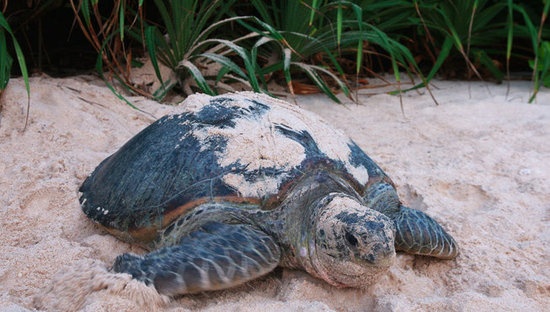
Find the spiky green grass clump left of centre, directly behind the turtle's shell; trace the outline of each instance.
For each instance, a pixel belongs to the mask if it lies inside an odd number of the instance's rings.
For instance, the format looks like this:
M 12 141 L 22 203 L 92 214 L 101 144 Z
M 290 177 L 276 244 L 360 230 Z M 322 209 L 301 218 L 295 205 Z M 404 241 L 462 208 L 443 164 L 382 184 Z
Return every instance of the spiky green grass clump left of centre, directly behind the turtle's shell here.
M 82 16 L 79 18 L 81 27 L 99 52 L 97 69 L 102 71 L 106 65 L 129 91 L 159 100 L 176 85 L 186 94 L 195 90 L 216 94 L 218 86 L 229 88 L 223 83 L 225 78 L 247 84 L 254 91 L 261 91 L 250 52 L 237 44 L 240 39 L 213 36 L 220 28 L 248 18 L 229 17 L 228 11 L 234 0 L 216 0 L 208 4 L 197 0 L 155 0 L 153 3 L 160 16 L 156 22 L 149 21 L 145 16 L 143 1 L 139 1 L 133 10 L 129 1 L 119 1 L 105 22 L 98 13 L 98 0 L 81 0 L 78 5 L 73 0 L 71 2 L 74 10 Z M 95 17 L 95 24 L 92 17 Z M 132 50 L 125 48 L 128 40 L 124 36 L 130 37 L 148 52 L 155 75 L 161 82 L 161 90 L 147 94 L 132 85 L 129 71 L 134 59 L 130 53 Z M 122 60 L 120 55 L 123 56 Z M 234 57 L 240 58 L 244 70 Z M 173 70 L 177 81 L 162 77 L 160 62 Z M 214 76 L 205 75 L 204 69 L 212 66 L 212 63 L 219 64 L 220 70 Z

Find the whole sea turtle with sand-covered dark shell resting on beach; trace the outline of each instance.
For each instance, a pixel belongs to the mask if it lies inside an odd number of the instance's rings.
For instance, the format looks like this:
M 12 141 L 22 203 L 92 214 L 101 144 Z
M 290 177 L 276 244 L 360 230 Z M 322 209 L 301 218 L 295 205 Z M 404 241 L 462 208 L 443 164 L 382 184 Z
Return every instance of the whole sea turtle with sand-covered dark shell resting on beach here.
M 395 250 L 452 259 L 457 244 L 350 138 L 250 92 L 193 95 L 84 181 L 84 213 L 151 250 L 113 270 L 167 295 L 218 290 L 280 265 L 364 287 Z

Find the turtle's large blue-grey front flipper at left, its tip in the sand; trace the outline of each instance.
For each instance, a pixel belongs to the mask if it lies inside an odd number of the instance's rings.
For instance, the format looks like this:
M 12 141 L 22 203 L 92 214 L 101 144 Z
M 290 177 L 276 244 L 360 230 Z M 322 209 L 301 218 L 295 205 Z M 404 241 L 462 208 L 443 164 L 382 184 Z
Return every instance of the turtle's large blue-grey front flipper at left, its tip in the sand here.
M 209 222 L 175 246 L 118 256 L 113 270 L 181 295 L 243 284 L 272 271 L 280 255 L 274 239 L 250 225 Z

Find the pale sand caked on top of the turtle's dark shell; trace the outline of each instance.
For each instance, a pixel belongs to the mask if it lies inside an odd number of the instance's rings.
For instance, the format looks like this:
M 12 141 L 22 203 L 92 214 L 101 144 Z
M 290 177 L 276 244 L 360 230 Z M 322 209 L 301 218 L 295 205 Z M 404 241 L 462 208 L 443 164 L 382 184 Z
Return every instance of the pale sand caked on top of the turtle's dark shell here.
M 235 120 L 235 127 L 204 127 L 196 129 L 193 134 L 200 142 L 206 142 L 208 138 L 215 136 L 227 139 L 226 149 L 223 153 L 216 155 L 220 166 L 226 167 L 239 162 L 246 165 L 247 170 L 274 168 L 281 172 L 281 174 L 266 176 L 256 181 L 247 181 L 244 176 L 235 173 L 226 174 L 223 177 L 224 182 L 238 190 L 242 196 L 277 194 L 288 173 L 306 158 L 304 147 L 277 131 L 275 126 L 308 132 L 317 143 L 319 150 L 331 159 L 340 160 L 359 183 L 367 183 L 367 169 L 350 163 L 351 140 L 319 116 L 264 94 L 240 92 L 224 94 L 221 97 L 232 99 L 227 101 L 228 107 L 242 108 L 243 111 L 254 105 L 251 100 L 269 107 L 264 114 L 243 114 Z M 182 112 L 197 113 L 204 106 L 210 105 L 211 99 L 211 96 L 205 94 L 191 95 L 180 107 L 183 109 Z M 207 148 L 207 145 L 202 147 L 202 149 Z

